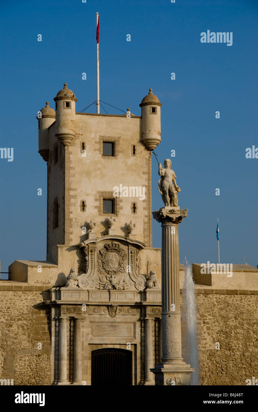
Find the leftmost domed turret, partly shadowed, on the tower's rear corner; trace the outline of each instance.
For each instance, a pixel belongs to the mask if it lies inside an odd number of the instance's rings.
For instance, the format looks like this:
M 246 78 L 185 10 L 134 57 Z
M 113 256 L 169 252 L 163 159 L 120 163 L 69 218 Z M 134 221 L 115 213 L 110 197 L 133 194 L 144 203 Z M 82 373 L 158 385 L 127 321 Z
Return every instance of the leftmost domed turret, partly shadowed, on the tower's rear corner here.
M 56 112 L 49 107 L 49 102 L 46 102 L 44 108 L 38 112 L 38 152 L 43 157 L 45 162 L 48 162 L 49 157 L 49 126 L 54 123 Z

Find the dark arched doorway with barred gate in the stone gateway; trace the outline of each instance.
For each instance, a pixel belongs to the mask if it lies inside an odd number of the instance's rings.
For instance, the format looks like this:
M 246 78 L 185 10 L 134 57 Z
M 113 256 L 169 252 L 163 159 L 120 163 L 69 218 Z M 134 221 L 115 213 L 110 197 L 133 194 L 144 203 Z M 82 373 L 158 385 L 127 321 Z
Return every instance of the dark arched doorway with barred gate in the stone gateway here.
M 131 386 L 132 352 L 97 349 L 91 352 L 91 385 Z

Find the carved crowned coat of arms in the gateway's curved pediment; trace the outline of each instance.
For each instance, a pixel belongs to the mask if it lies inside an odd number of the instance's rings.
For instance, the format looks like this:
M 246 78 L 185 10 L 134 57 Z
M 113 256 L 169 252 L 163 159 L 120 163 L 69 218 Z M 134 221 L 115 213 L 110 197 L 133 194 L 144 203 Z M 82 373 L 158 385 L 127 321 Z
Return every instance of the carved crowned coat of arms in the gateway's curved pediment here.
M 106 272 L 109 275 L 116 275 L 120 272 L 124 273 L 125 258 L 125 251 L 124 249 L 120 248 L 120 245 L 118 243 L 106 243 L 106 245 L 99 250 L 99 272 Z

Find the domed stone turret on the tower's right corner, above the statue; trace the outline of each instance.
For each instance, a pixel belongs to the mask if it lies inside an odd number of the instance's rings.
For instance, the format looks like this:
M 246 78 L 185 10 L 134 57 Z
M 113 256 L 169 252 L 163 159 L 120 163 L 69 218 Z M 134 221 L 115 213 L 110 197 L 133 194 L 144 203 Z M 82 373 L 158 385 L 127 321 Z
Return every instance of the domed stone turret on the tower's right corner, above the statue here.
M 154 150 L 161 142 L 160 133 L 160 103 L 157 96 L 149 89 L 141 104 L 142 141 L 148 150 Z

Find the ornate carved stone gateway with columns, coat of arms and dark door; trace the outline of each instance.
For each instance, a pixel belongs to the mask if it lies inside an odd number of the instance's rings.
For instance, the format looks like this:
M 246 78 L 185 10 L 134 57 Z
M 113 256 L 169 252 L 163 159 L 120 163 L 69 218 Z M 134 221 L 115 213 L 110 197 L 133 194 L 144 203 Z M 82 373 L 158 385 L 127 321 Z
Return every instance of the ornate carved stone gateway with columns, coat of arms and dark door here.
M 152 264 L 145 265 L 153 252 L 116 235 L 76 246 L 78 269 L 70 269 L 66 286 L 52 288 L 48 301 L 53 383 L 154 385 L 150 368 L 160 361 L 161 288 Z

